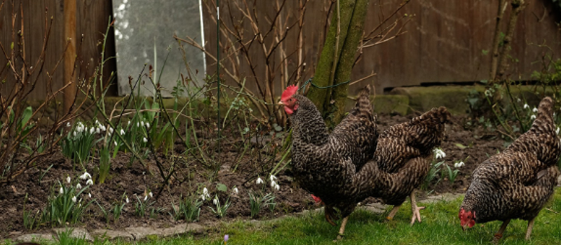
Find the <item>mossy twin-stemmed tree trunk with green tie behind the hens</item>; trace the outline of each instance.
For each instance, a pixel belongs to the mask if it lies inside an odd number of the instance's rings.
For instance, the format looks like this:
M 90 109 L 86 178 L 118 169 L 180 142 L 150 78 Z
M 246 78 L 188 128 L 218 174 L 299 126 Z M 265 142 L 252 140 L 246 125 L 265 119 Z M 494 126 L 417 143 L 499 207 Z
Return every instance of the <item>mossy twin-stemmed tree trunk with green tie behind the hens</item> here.
M 339 0 L 332 14 L 313 83 L 320 87 L 344 83 L 351 78 L 369 0 Z M 337 3 L 335 3 L 337 4 Z M 316 104 L 327 125 L 337 125 L 344 116 L 348 84 L 322 89 L 310 87 L 309 99 Z

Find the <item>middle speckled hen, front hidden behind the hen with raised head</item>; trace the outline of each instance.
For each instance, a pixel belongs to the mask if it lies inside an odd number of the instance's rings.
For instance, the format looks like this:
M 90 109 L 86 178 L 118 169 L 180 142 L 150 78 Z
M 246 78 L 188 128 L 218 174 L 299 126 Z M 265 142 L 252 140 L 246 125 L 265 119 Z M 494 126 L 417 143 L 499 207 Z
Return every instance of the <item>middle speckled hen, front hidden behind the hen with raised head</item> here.
M 440 107 L 381 133 L 373 161 L 365 166 L 365 170 L 372 164 L 378 167 L 377 178 L 373 179 L 374 188 L 362 195 L 378 197 L 393 205 L 388 220 L 393 219 L 409 196 L 413 213 L 411 225 L 416 220 L 421 222 L 419 210 L 424 207 L 417 207 L 414 190 L 426 178 L 433 149 L 444 139 L 445 124 L 450 118 L 447 109 Z

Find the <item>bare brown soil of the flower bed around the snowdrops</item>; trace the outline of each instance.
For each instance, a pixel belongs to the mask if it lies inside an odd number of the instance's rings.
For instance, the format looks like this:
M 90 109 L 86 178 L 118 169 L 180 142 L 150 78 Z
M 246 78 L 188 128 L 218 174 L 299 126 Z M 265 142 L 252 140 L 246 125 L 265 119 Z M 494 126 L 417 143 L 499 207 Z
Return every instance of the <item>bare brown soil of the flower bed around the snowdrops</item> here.
M 403 123 L 410 120 L 417 115 L 409 116 L 391 116 L 379 115 L 379 128 L 384 130 L 391 125 Z M 419 190 L 421 198 L 427 193 L 465 193 L 469 185 L 470 175 L 473 169 L 477 167 L 480 162 L 488 158 L 488 155 L 494 155 L 497 150 L 502 151 L 504 148 L 503 139 L 499 134 L 482 130 L 480 127 L 471 127 L 466 129 L 464 127 L 467 118 L 459 117 L 453 118 L 451 125 L 447 127 L 447 138 L 442 144 L 442 150 L 445 151 L 445 163 L 450 167 L 454 166 L 454 161 L 464 160 L 465 166 L 459 171 L 456 181 L 451 185 L 447 180 L 447 176 L 440 176 L 432 181 L 428 190 Z M 228 135 L 228 132 L 224 132 Z M 231 135 L 231 138 L 236 136 Z M 184 158 L 175 158 L 171 160 L 164 155 L 158 155 L 158 161 L 173 162 L 177 165 L 177 176 L 184 176 L 184 178 L 170 179 L 170 185 L 165 186 L 158 195 L 161 186 L 163 185 L 163 178 L 158 172 L 156 167 L 156 160 L 153 156 L 147 158 L 149 167 L 144 168 L 138 161 L 130 162 L 130 153 L 119 153 L 117 158 L 111 161 L 110 176 L 103 184 L 95 183 L 91 186 L 86 193 L 92 195 L 92 199 L 97 200 L 105 209 L 121 200 L 123 193 L 129 197 L 130 203 L 126 204 L 123 214 L 118 222 L 113 221 L 107 223 L 104 221 L 104 216 L 93 202 L 86 214 L 82 218 L 77 227 L 87 228 L 88 230 L 105 228 L 105 229 L 119 229 L 133 226 L 149 226 L 154 228 L 166 228 L 173 226 L 177 223 L 184 221 L 174 221 L 170 213 L 172 211 L 172 204 L 177 204 L 180 197 L 190 195 L 190 193 L 201 193 L 203 186 L 208 187 L 210 195 L 214 197 L 215 194 L 219 195 L 219 199 L 224 202 L 227 199 L 227 194 L 216 190 L 217 183 L 223 183 L 230 189 L 233 186 L 238 186 L 239 193 L 231 195 L 231 207 L 227 211 L 227 216 L 222 220 L 229 221 L 233 219 L 250 219 L 250 202 L 248 197 L 248 190 L 261 190 L 264 188 L 269 191 L 269 181 L 266 181 L 266 186 L 257 186 L 255 180 L 257 176 L 266 178 L 268 173 L 273 167 L 274 163 L 264 165 L 260 161 L 267 161 L 267 156 L 252 155 L 252 159 L 239 158 L 239 148 L 236 144 L 231 143 L 226 137 L 223 141 L 222 154 L 220 160 L 222 167 L 216 174 L 216 177 L 211 182 L 208 181 L 209 177 L 215 172 L 210 170 L 202 162 L 189 162 L 189 155 L 184 155 Z M 177 142 L 180 143 L 180 142 Z M 255 141 L 253 148 L 259 147 L 259 141 Z M 466 148 L 464 148 L 464 146 Z M 205 147 L 213 147 L 212 144 L 205 145 Z M 176 153 L 182 153 L 182 146 L 177 144 L 175 146 Z M 270 157 L 270 156 L 269 156 Z M 467 160 L 465 160 L 467 158 Z M 41 161 L 39 161 L 41 162 Z M 239 164 L 238 164 L 239 163 Z M 53 167 L 46 172 L 41 181 L 41 175 L 49 165 Z M 86 166 L 88 172 L 95 172 L 97 160 L 93 160 Z M 81 175 L 81 167 L 74 166 L 70 160 L 65 158 L 62 153 L 55 153 L 51 155 L 46 164 L 33 169 L 29 169 L 20 178 L 9 183 L 6 186 L 0 187 L 0 237 L 8 238 L 21 235 L 22 233 L 41 232 L 50 228 L 50 225 L 45 224 L 39 230 L 29 231 L 23 227 L 23 205 L 26 193 L 29 195 L 25 209 L 31 211 L 39 211 L 46 207 L 48 196 L 56 190 L 53 190 L 58 185 L 59 181 L 65 183 L 66 176 L 72 176 L 74 180 L 77 176 Z M 235 171 L 234 171 L 235 169 Z M 441 171 L 446 172 L 446 169 Z M 303 211 L 304 209 L 316 208 L 316 205 L 310 195 L 301 188 L 298 188 L 292 183 L 292 177 L 289 176 L 290 172 L 281 171 L 278 177 L 278 184 L 280 190 L 275 192 L 276 207 L 273 211 L 268 208 L 262 209 L 257 219 L 270 219 L 285 214 Z M 95 178 L 95 176 L 94 176 Z M 84 183 L 82 182 L 82 185 Z M 55 188 L 53 188 L 55 187 Z M 156 211 L 156 216 L 150 217 L 149 211 L 144 217 L 135 216 L 135 203 L 137 197 L 141 200 L 144 198 L 144 193 L 151 191 L 154 193 L 155 201 L 153 206 Z M 83 195 L 85 201 L 89 201 L 90 197 Z M 375 202 L 370 198 L 366 202 Z M 219 221 L 220 219 L 212 214 L 210 207 L 213 207 L 212 201 L 207 200 L 201 208 L 201 216 L 198 223 L 201 225 L 209 225 Z

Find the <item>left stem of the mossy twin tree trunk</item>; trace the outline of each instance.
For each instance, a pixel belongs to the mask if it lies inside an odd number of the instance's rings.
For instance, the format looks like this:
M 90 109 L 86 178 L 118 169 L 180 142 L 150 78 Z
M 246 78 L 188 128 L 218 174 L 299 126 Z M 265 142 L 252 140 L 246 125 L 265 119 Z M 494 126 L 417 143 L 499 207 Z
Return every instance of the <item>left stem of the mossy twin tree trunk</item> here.
M 342 43 L 344 43 L 347 31 L 349 30 L 349 23 L 353 16 L 355 0 L 338 1 L 339 14 L 337 14 L 338 10 L 337 7 L 335 7 L 331 17 L 331 24 L 327 31 L 327 36 L 325 37 L 325 44 L 323 45 L 318 66 L 316 67 L 316 74 L 313 76 L 313 83 L 319 87 L 327 87 L 333 84 L 335 70 L 333 68 L 337 67 L 337 63 L 339 62 L 339 57 L 343 49 Z M 340 31 L 338 31 L 338 29 Z M 339 42 L 337 42 L 337 38 L 339 38 Z M 337 43 L 339 45 L 337 45 Z M 353 55 L 354 52 L 356 52 L 356 50 L 353 51 Z M 328 90 L 325 88 L 318 88 L 311 85 L 307 94 L 308 98 L 311 99 L 313 104 L 316 104 L 318 110 L 322 114 L 325 111 L 323 107 L 325 101 L 331 98 L 330 94 L 327 92 Z

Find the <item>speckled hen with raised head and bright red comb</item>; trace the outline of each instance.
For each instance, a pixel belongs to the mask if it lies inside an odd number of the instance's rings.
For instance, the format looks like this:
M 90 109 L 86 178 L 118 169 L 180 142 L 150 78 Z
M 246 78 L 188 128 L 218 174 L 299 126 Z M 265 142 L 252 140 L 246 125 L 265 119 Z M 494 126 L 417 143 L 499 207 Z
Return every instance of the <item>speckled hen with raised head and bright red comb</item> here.
M 335 225 L 334 208 L 344 220 L 339 238 L 349 214 L 354 210 L 359 193 L 367 188 L 371 176 L 358 170 L 372 158 L 376 149 L 377 127 L 370 104 L 370 86 L 358 96 L 355 108 L 331 134 L 316 106 L 306 97 L 296 94 L 291 85 L 282 94 L 280 105 L 292 123 L 292 173 L 304 190 L 320 197 L 325 204 L 325 219 Z

